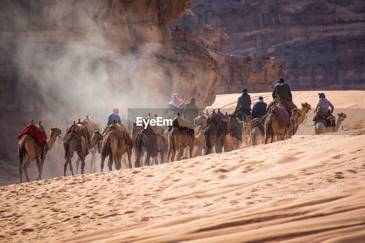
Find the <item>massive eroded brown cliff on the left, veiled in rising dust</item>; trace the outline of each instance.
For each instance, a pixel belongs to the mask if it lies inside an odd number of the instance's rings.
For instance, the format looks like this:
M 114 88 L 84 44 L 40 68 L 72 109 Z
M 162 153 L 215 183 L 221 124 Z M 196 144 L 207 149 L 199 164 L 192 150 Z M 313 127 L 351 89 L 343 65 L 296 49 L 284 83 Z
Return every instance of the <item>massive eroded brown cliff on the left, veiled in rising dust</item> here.
M 190 0 L 2 3 L 0 157 L 15 161 L 16 136 L 31 119 L 48 135 L 91 113 L 105 126 L 115 106 L 124 114 L 163 108 L 172 93 L 212 104 L 218 65 L 168 27 L 189 7 Z

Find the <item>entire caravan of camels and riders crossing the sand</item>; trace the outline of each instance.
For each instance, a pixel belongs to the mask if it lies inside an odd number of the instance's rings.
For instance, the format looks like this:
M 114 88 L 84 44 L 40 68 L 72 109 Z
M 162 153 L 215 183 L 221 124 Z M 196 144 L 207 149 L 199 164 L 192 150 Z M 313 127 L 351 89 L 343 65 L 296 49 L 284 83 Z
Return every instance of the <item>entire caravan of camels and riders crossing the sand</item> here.
M 277 88 L 279 93 L 281 88 L 282 86 Z M 37 180 L 42 179 L 42 167 L 47 152 L 53 147 L 57 136 L 64 145 L 64 176 L 68 166 L 74 175 L 71 162 L 74 152 L 78 157 L 76 174 L 80 163 L 81 174 L 84 174 L 88 154 L 91 154 L 90 173 L 95 173 L 97 154 L 100 154 L 100 171 L 103 172 L 105 159 L 109 171 L 113 170 L 113 165 L 116 170 L 120 170 L 122 160 L 125 167 L 131 169 L 132 154 L 134 166 L 141 167 L 291 139 L 298 131 L 299 125 L 307 121 L 311 105 L 304 102 L 299 109 L 288 97 L 285 99 L 276 92 L 273 101 L 267 105 L 260 96 L 251 109 L 250 96 L 247 89 L 243 89 L 233 113 L 223 114 L 220 109 L 217 112 L 215 109 L 199 111 L 195 105 L 195 98 L 192 97 L 189 103 L 184 104 L 178 95 L 174 94 L 162 114 L 164 118 L 171 120 L 170 124 L 158 125 L 157 114 L 152 117 L 151 113 L 143 118 L 142 125 L 134 120 L 126 121 L 125 118 L 122 123 L 118 115 L 119 109 L 114 107 L 108 117 L 107 126 L 102 130 L 100 122 L 92 114 L 91 117 L 78 119 L 77 123 L 73 121 L 66 128 L 63 138 L 58 127 L 51 127 L 48 140 L 41 121 L 35 125 L 31 120 L 31 124 L 18 136 L 20 182 L 23 182 L 22 170 L 27 181 L 30 181 L 27 167 L 34 159 L 38 166 Z M 331 115 L 333 105 L 325 99 L 323 93 L 319 93 L 319 98 L 314 124 L 304 125 L 314 126 L 315 134 L 338 131 L 346 115 L 339 112 L 334 117 Z M 127 130 L 129 123 L 130 131 Z M 28 159 L 22 168 L 26 154 Z

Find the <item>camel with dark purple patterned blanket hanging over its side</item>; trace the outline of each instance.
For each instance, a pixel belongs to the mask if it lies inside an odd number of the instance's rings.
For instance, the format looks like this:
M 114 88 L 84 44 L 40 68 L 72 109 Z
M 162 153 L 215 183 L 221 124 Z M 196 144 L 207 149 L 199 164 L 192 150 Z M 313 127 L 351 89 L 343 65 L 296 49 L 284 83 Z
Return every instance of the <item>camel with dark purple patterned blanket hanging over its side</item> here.
M 159 136 L 159 135 L 157 135 Z M 146 161 L 145 161 L 145 164 L 147 166 L 150 166 L 150 149 L 148 147 L 148 141 L 146 139 L 146 137 L 143 135 L 143 134 L 137 134 L 137 137 L 136 137 L 136 153 L 137 153 L 137 156 L 136 156 L 136 160 L 134 162 L 135 164 L 135 167 L 141 167 L 141 155 L 143 155 L 143 151 L 142 151 L 142 147 L 145 147 L 146 148 L 146 151 L 147 151 L 147 155 L 146 155 Z M 166 139 L 165 139 L 165 136 L 162 136 L 160 137 L 160 158 L 161 158 L 161 164 L 164 163 L 164 154 L 165 154 L 165 147 L 166 147 Z M 153 159 L 153 162 L 152 163 L 155 163 L 155 165 L 158 164 L 158 161 L 157 161 L 157 157 L 155 157 Z

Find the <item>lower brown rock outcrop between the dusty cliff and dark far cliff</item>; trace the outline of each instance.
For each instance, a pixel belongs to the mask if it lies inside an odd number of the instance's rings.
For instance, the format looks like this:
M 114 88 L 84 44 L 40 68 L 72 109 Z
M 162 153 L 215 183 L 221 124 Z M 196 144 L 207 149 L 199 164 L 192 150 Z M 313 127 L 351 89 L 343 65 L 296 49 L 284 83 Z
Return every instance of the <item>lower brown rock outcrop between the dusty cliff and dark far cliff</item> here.
M 191 32 L 197 42 L 205 46 L 218 62 L 221 78 L 215 92 L 217 94 L 267 92 L 273 89 L 278 78 L 283 77 L 285 68 L 273 57 L 237 57 L 220 53 L 228 35 L 214 26 L 199 24 L 195 14 L 187 9 L 184 16 L 169 25 L 180 26 Z

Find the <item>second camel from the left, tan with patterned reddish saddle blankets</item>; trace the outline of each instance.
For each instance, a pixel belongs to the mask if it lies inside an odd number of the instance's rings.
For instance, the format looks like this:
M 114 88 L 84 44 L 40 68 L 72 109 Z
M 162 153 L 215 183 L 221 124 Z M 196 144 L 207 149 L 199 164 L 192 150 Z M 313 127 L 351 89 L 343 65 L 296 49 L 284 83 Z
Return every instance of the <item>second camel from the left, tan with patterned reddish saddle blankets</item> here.
M 87 142 L 87 148 L 91 149 L 95 147 L 97 141 L 101 140 L 101 134 L 99 131 L 94 131 L 90 140 Z M 64 176 L 66 176 L 67 165 L 70 165 L 70 171 L 73 174 L 73 168 L 71 165 L 71 158 L 73 157 L 74 151 L 76 151 L 78 157 L 81 160 L 81 174 L 84 174 L 85 167 L 85 157 L 86 153 L 82 153 L 81 149 L 81 140 L 74 134 L 70 134 L 69 138 L 64 141 L 65 148 L 65 159 L 66 162 L 64 164 Z

